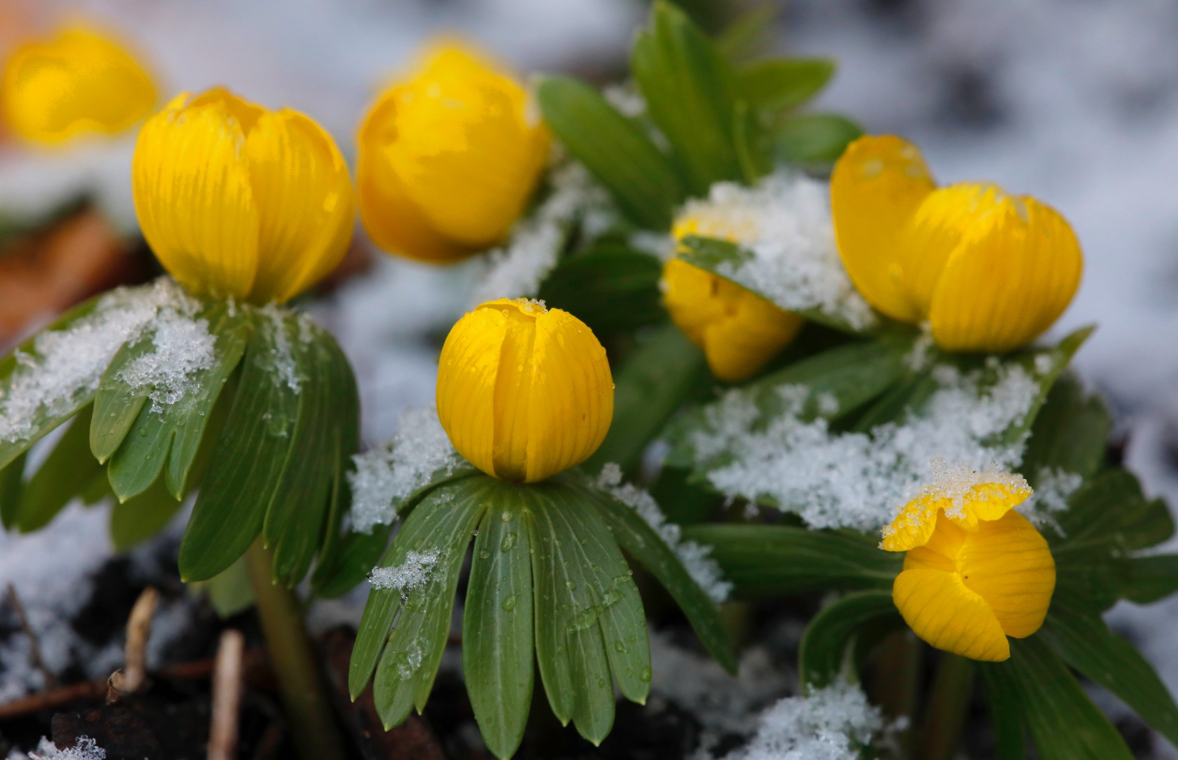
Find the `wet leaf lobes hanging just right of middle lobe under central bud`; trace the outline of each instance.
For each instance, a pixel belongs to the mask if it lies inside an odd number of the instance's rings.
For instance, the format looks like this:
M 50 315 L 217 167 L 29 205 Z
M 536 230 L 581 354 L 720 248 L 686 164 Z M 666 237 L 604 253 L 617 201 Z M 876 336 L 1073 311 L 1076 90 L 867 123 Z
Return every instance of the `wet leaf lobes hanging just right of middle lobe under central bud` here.
M 519 490 L 536 612 L 536 660 L 552 713 L 594 745 L 614 725 L 614 686 L 646 701 L 650 648 L 642 600 L 593 500 L 564 478 Z M 608 643 L 608 648 L 607 648 Z

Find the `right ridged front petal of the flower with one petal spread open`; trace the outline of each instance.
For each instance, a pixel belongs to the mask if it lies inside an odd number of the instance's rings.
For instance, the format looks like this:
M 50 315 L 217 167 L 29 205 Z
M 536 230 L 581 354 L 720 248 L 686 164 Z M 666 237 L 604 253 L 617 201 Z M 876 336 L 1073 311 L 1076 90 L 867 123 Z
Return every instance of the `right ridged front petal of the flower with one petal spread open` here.
M 951 351 L 1008 351 L 1064 312 L 1080 284 L 1079 242 L 1033 198 L 1005 197 L 969 226 L 933 296 L 933 339 Z

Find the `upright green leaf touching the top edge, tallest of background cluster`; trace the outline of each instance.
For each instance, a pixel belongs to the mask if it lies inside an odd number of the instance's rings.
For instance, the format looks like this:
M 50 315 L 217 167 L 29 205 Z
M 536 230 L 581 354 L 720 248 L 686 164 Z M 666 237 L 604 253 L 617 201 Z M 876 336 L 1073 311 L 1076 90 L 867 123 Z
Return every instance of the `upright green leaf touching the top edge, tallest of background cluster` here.
M 710 40 L 681 11 L 656 0 L 650 26 L 630 55 L 647 110 L 674 147 L 688 193 L 741 179 L 733 140 L 734 74 Z

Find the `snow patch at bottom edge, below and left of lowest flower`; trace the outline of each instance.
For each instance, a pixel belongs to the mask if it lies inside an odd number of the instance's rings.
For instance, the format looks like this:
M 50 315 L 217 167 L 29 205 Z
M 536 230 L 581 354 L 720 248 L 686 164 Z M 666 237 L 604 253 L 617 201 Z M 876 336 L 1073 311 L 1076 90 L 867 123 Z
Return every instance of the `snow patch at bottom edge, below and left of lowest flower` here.
M 882 714 L 863 692 L 836 681 L 762 713 L 753 740 L 724 760 L 859 760 L 884 729 Z

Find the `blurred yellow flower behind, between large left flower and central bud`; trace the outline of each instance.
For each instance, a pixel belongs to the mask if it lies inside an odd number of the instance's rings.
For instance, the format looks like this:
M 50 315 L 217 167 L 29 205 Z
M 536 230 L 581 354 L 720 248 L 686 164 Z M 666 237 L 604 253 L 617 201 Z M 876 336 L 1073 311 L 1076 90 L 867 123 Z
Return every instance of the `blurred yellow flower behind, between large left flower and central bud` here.
M 377 99 L 358 144 L 369 234 L 393 253 L 438 263 L 507 236 L 536 187 L 549 136 L 523 87 L 475 52 L 442 45 Z

